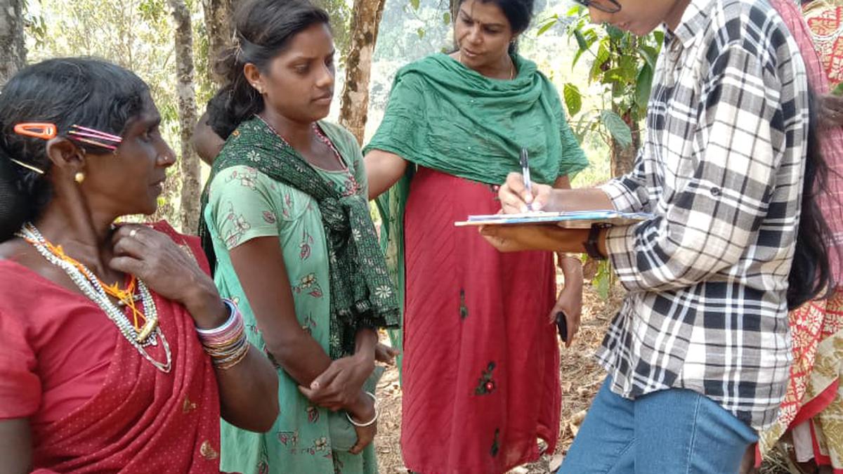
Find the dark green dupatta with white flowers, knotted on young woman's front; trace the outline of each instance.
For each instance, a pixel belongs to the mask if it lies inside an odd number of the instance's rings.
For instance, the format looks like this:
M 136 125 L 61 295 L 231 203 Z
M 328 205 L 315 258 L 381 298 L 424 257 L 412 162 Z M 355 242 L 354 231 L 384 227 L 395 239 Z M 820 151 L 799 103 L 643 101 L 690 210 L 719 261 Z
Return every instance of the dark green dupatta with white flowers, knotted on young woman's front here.
M 326 131 L 327 132 L 327 131 Z M 332 137 L 332 139 L 334 139 Z M 214 160 L 211 176 L 202 192 L 201 215 L 205 215 L 210 184 L 222 170 L 244 165 L 259 170 L 313 197 L 319 205 L 330 262 L 330 357 L 354 352 L 358 329 L 395 327 L 399 304 L 365 198 L 341 196 L 330 183 L 259 118 L 244 121 L 232 132 Z M 216 267 L 211 234 L 201 220 L 202 247 Z

